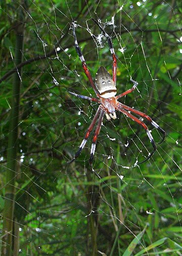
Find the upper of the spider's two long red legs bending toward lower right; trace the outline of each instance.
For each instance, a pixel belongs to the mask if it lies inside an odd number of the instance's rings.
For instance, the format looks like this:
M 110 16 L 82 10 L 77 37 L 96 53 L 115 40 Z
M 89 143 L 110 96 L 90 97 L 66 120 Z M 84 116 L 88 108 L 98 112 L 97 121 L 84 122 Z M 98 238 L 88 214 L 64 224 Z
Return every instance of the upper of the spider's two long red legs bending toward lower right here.
M 163 138 L 161 139 L 160 142 L 158 142 L 157 144 L 160 144 L 162 143 L 162 141 L 164 140 L 165 138 L 165 131 L 156 123 L 154 122 L 148 115 L 146 115 L 145 113 L 141 112 L 141 111 L 138 111 L 138 110 L 135 110 L 134 108 L 132 107 L 129 107 L 129 106 L 126 106 L 122 103 L 120 103 L 120 106 L 124 109 L 126 109 L 127 111 L 130 111 L 130 112 L 133 112 L 134 114 L 136 115 L 139 115 L 145 119 L 147 119 L 156 129 L 158 129 L 162 134 L 163 134 Z

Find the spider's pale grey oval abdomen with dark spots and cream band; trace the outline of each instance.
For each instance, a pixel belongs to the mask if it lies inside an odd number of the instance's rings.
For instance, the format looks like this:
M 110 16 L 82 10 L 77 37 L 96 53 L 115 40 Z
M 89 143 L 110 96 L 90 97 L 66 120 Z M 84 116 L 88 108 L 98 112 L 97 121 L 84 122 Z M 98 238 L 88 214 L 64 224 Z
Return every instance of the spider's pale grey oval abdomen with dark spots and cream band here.
M 108 99 L 116 95 L 115 83 L 104 66 L 96 73 L 96 88 L 102 98 Z

